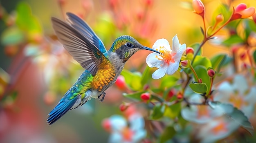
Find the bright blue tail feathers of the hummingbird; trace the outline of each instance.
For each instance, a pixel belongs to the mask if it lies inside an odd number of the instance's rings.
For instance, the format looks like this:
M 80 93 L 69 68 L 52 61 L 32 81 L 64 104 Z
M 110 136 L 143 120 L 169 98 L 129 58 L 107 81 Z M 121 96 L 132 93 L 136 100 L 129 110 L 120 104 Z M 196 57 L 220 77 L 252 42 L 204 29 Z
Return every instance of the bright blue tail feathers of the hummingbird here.
M 66 93 L 67 94 L 67 93 Z M 72 106 L 76 103 L 78 96 L 74 97 L 73 99 L 67 99 L 68 96 L 64 96 L 58 105 L 48 114 L 49 117 L 47 119 L 47 123 L 52 125 L 58 119 L 60 119 L 67 111 L 72 108 Z

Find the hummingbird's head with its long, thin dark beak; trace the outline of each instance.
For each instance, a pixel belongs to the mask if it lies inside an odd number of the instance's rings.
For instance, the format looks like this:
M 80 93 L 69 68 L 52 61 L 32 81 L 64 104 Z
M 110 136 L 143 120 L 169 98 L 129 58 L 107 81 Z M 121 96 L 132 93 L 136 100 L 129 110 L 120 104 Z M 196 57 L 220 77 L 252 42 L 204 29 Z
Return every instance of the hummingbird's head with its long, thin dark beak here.
M 110 51 L 116 53 L 119 59 L 122 59 L 123 63 L 125 63 L 133 54 L 142 49 L 160 54 L 159 51 L 141 45 L 137 40 L 128 35 L 118 37 L 112 44 Z

